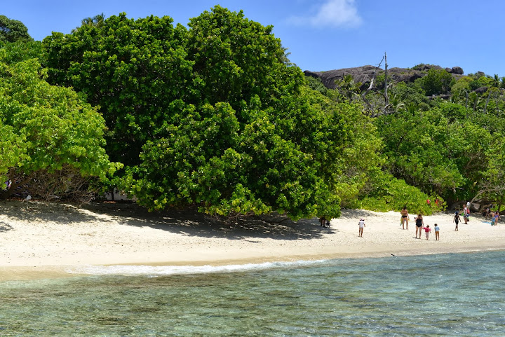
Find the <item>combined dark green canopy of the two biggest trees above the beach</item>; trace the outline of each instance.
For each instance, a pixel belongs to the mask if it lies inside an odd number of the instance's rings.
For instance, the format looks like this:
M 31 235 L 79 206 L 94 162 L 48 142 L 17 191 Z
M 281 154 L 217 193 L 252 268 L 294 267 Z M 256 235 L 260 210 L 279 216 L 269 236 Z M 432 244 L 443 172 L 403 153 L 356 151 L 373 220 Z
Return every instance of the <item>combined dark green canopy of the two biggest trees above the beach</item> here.
M 138 202 L 337 216 L 341 117 L 309 103 L 271 27 L 220 6 L 189 29 L 171 23 L 123 13 L 43 41 L 50 81 L 100 105 L 107 151 L 128 165 Z

